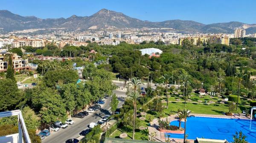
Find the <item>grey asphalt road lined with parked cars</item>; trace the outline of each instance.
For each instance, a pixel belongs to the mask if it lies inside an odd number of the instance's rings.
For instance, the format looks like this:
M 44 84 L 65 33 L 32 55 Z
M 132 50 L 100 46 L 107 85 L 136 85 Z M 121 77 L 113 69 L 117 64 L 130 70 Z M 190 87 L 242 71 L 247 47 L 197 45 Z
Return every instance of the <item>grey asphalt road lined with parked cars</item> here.
M 125 95 L 125 92 L 122 91 L 114 91 L 114 93 Z M 102 105 L 102 109 L 100 111 L 89 113 L 89 115 L 82 119 L 72 118 L 72 120 L 75 122 L 73 125 L 68 125 L 66 129 L 60 129 L 58 132 L 51 132 L 51 135 L 42 140 L 42 143 L 65 143 L 65 141 L 70 138 L 81 139 L 82 137 L 79 135 L 79 133 L 82 130 L 87 129 L 91 122 L 98 122 L 104 117 L 104 115 L 111 114 L 109 105 L 110 101 L 110 97 L 106 99 L 105 104 Z M 118 108 L 122 107 L 122 104 L 124 104 L 124 102 L 119 102 Z

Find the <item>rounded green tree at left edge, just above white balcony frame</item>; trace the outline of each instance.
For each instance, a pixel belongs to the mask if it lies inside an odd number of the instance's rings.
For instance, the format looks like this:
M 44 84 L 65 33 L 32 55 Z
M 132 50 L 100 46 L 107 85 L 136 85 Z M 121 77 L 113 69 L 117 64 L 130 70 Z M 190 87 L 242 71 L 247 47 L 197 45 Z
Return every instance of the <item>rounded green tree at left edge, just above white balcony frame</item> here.
M 22 98 L 15 81 L 0 79 L 0 111 L 17 109 Z

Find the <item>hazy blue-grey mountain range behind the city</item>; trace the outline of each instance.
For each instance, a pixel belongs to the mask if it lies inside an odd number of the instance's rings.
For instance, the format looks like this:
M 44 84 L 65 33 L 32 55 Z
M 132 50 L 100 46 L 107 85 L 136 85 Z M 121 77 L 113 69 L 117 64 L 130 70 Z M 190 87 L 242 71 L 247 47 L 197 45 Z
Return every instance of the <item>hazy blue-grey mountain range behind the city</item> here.
M 245 28 L 246 34 L 256 33 L 256 24 L 225 22 L 203 24 L 191 20 L 166 20 L 163 22 L 143 21 L 131 18 L 120 12 L 101 9 L 91 16 L 69 18 L 40 19 L 34 16 L 23 17 L 7 10 L 0 10 L 0 28 L 3 31 L 17 31 L 38 28 L 62 28 L 86 30 L 101 28 L 173 28 L 179 32 L 233 33 L 235 28 Z

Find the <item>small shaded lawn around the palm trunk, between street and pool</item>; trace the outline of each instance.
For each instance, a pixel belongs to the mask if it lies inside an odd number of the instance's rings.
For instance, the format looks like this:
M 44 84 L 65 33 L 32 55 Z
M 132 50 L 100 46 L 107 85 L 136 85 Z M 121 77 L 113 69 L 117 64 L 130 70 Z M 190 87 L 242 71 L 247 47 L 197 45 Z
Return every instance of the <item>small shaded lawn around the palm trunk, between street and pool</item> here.
M 146 121 L 141 121 L 140 126 L 145 126 L 148 127 L 148 120 Z M 112 133 L 110 137 L 112 138 L 119 138 L 119 135 L 122 134 L 122 132 L 127 133 L 128 137 L 125 139 L 132 139 L 132 126 L 127 125 L 121 126 L 118 128 L 115 132 Z M 148 129 L 140 130 L 140 129 L 135 129 L 135 140 L 148 140 Z

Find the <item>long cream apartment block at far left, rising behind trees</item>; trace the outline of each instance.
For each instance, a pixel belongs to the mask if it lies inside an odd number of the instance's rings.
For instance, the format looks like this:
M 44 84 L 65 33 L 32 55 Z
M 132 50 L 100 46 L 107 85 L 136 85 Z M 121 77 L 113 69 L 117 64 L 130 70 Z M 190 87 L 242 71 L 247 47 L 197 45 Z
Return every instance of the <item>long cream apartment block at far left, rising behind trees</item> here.
M 13 48 L 20 48 L 24 46 L 44 47 L 43 39 L 16 39 L 12 42 Z

